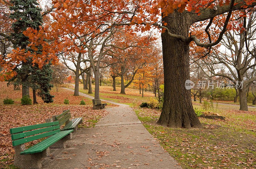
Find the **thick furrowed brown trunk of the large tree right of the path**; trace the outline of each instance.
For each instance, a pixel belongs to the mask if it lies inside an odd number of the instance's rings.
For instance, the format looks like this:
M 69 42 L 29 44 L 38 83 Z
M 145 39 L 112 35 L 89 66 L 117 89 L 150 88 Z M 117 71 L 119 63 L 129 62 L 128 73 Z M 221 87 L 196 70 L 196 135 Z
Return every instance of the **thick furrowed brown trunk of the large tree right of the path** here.
M 189 21 L 175 10 L 164 17 L 171 33 L 188 37 Z M 185 88 L 189 79 L 189 44 L 161 34 L 164 60 L 164 103 L 158 124 L 173 128 L 202 128 L 192 106 L 191 91 Z

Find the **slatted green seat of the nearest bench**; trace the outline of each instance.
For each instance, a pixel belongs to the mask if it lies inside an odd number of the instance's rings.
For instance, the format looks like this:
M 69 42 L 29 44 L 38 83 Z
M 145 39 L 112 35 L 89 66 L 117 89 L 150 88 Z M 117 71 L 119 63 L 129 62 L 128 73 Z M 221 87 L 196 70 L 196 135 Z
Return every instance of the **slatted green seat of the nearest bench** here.
M 54 134 L 53 136 L 46 138 L 40 143 L 35 144 L 34 146 L 28 148 L 25 151 L 22 151 L 20 154 L 22 155 L 22 154 L 32 154 L 32 153 L 42 152 L 47 147 L 50 147 L 53 143 L 56 143 L 57 141 L 67 136 L 72 131 L 73 130 L 59 131 L 57 134 Z

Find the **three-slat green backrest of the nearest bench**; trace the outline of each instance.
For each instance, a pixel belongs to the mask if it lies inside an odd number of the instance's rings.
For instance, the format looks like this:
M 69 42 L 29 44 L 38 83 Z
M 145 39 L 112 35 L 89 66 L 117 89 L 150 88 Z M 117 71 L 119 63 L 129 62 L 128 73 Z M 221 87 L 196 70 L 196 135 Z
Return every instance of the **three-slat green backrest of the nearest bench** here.
M 12 128 L 10 129 L 13 140 L 12 146 L 28 143 L 30 141 L 34 141 L 43 137 L 51 136 L 58 133 L 59 131 L 60 125 L 58 121 Z

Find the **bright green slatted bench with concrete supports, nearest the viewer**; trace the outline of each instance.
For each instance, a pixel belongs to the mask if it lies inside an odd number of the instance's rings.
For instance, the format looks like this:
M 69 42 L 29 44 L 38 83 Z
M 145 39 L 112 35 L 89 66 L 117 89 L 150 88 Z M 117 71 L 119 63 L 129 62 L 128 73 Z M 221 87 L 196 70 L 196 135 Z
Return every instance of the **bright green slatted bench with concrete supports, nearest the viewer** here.
M 58 121 L 10 129 L 15 150 L 14 165 L 19 168 L 41 168 L 42 158 L 50 155 L 49 147 L 66 148 L 66 141 L 72 139 L 72 131 L 60 131 Z M 25 148 L 24 143 L 44 137 L 48 138 Z

